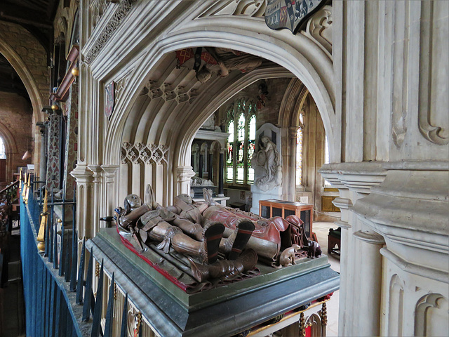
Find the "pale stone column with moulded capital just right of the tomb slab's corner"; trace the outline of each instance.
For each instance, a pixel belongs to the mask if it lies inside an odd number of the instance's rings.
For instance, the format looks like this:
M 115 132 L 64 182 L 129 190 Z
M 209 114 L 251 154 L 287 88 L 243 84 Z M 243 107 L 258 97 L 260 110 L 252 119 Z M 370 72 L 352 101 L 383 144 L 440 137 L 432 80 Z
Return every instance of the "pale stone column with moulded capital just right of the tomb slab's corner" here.
M 382 163 L 361 162 L 326 164 L 319 172 L 340 191 L 334 200 L 342 212 L 341 220 L 335 223 L 342 227 L 338 334 L 378 336 L 383 239 L 358 220 L 352 205 L 382 183 L 386 171 Z M 368 271 L 368 266 L 373 269 Z

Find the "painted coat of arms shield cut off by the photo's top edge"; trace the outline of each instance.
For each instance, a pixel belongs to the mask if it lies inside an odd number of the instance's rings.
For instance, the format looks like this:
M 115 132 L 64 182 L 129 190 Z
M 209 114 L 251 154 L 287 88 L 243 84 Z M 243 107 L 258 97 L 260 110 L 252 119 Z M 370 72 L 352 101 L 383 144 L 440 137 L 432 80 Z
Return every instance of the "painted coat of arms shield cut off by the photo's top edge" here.
M 326 0 L 268 0 L 265 23 L 271 29 L 290 29 L 293 34 Z

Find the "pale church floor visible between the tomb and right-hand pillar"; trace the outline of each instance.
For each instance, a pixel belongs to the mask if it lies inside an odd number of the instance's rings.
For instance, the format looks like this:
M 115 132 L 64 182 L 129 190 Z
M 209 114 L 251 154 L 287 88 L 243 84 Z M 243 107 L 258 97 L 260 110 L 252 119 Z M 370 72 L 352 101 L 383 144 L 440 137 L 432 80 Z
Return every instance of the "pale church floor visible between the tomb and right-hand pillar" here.
M 335 223 L 314 223 L 313 231 L 316 234 L 316 238 L 321 246 L 321 250 L 324 254 L 328 255 L 328 232 L 329 228 L 337 229 L 338 226 Z M 340 256 L 331 254 L 328 256 L 330 267 L 336 272 L 340 272 Z M 340 291 L 335 291 L 333 296 L 327 303 L 328 309 L 328 329 L 326 331 L 327 337 L 338 336 L 338 303 L 340 299 Z

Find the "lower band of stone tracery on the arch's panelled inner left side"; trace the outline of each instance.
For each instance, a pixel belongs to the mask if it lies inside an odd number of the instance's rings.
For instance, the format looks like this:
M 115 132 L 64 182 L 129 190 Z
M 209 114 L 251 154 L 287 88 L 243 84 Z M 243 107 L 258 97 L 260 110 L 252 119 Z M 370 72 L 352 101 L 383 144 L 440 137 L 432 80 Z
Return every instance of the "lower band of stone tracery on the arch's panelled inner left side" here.
M 156 165 L 167 164 L 168 145 L 125 142 L 121 145 L 120 159 L 122 164 L 126 164 L 126 161 L 133 164 L 139 164 L 140 162 Z

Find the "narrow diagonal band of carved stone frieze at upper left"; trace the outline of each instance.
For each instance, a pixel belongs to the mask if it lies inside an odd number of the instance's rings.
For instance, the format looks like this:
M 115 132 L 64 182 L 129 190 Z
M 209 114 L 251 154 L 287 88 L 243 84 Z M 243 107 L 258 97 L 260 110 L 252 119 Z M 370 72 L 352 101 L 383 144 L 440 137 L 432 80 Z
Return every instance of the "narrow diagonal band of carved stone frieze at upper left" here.
M 125 18 L 125 16 L 129 13 L 135 1 L 136 0 L 121 1 L 119 6 L 117 6 L 116 11 L 114 12 L 114 15 L 112 15 L 112 19 L 107 22 L 107 25 L 105 25 L 105 29 L 103 29 L 100 33 L 100 37 L 98 37 L 97 41 L 95 41 L 95 44 L 93 44 L 92 48 L 87 52 L 86 57 L 84 58 L 84 62 L 86 62 L 88 65 L 91 64 L 98 53 L 100 53 L 103 46 L 105 46 L 107 40 L 109 40 L 115 30 L 119 27 L 123 18 Z

